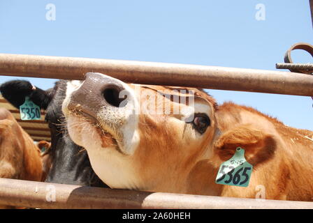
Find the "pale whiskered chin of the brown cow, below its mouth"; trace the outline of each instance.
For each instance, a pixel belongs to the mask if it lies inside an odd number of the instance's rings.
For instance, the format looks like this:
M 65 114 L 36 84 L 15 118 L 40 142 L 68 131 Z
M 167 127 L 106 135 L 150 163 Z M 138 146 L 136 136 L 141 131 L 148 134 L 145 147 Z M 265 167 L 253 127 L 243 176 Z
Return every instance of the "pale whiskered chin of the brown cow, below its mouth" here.
M 105 132 L 99 125 L 96 125 L 84 116 L 70 115 L 66 117 L 68 134 L 71 139 L 84 148 L 108 149 L 113 148 L 120 153 L 117 141 L 112 134 Z

